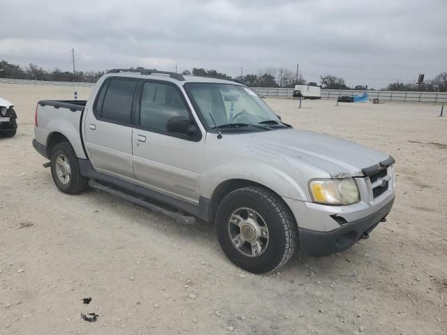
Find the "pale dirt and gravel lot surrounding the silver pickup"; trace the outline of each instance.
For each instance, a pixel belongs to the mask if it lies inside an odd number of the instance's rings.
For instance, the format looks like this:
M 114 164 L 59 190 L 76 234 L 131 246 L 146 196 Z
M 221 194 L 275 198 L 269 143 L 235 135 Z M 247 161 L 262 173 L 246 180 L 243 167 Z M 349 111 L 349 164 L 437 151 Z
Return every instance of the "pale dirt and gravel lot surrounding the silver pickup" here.
M 89 89 L 78 89 L 87 99 Z M 71 88 L 0 85 L 0 334 L 447 334 L 447 117 L 439 106 L 267 99 L 296 128 L 396 158 L 388 222 L 349 251 L 296 254 L 255 276 L 214 226 L 182 226 L 110 195 L 57 190 L 31 147 L 36 102 Z M 22 271 L 23 270 L 23 271 Z M 82 298 L 92 297 L 89 305 Z M 96 313 L 85 322 L 80 313 Z

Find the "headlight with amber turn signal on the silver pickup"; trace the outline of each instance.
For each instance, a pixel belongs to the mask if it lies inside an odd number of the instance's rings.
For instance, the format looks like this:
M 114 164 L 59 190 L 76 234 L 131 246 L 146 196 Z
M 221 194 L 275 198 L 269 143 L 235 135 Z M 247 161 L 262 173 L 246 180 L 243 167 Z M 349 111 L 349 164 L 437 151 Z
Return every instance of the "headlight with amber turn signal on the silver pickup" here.
M 353 204 L 360 200 L 353 178 L 311 180 L 309 191 L 312 200 L 321 204 Z

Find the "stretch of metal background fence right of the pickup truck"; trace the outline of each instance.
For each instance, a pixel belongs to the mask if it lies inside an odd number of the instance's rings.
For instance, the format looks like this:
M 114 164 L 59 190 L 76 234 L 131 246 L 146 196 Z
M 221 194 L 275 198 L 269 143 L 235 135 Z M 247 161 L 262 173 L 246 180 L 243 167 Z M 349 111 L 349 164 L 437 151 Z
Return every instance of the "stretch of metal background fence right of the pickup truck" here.
M 252 87 L 259 96 L 270 98 L 293 98 L 293 89 L 272 87 Z M 343 89 L 322 89 L 321 98 L 337 99 L 339 96 L 358 96 L 364 91 Z M 379 101 L 400 103 L 447 103 L 447 92 L 400 92 L 400 91 L 367 91 L 369 99 L 379 98 Z

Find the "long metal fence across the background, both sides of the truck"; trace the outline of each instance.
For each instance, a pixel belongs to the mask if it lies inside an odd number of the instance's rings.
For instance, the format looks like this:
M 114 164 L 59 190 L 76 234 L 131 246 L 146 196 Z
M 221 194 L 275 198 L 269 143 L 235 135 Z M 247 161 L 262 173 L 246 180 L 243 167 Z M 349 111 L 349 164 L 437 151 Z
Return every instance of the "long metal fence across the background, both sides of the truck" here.
M 0 78 L 0 84 L 32 84 L 73 86 L 73 82 L 50 82 L 44 80 L 22 80 Z M 91 82 L 75 82 L 76 87 L 91 87 Z M 280 89 L 273 87 L 252 87 L 259 95 L 269 98 L 293 98 L 293 89 Z M 447 92 L 400 92 L 400 91 L 367 91 L 369 99 L 379 98 L 379 101 L 391 101 L 400 103 L 447 103 Z M 343 89 L 322 89 L 321 98 L 337 99 L 339 96 L 362 95 L 363 91 Z

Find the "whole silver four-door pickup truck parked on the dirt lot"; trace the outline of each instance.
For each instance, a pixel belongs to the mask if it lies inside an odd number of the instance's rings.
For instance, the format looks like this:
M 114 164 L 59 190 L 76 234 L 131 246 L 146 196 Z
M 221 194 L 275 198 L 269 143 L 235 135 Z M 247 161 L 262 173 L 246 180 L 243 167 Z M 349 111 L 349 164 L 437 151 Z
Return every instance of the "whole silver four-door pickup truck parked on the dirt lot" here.
M 224 253 L 257 274 L 296 248 L 330 255 L 366 239 L 395 198 L 391 156 L 295 130 L 230 80 L 110 70 L 88 101 L 39 101 L 34 130 L 62 192 L 215 221 Z

